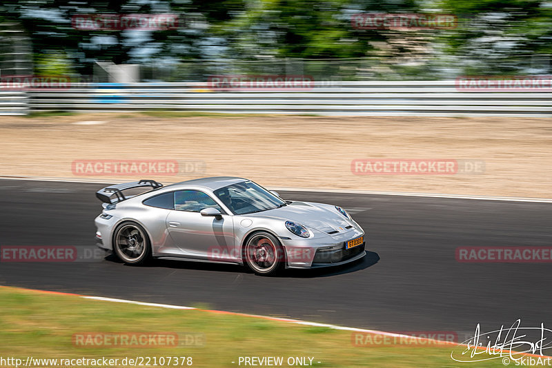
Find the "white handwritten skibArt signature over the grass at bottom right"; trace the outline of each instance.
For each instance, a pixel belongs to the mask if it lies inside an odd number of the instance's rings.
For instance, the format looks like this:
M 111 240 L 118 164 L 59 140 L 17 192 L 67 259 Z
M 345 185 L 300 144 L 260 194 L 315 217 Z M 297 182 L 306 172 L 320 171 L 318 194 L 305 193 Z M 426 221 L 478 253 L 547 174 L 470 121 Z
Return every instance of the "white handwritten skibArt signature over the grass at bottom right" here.
M 544 327 L 520 327 L 518 319 L 511 327 L 481 332 L 477 323 L 473 337 L 455 347 L 451 358 L 457 362 L 483 362 L 502 359 L 504 365 L 552 366 L 552 358 L 544 352 L 552 348 L 552 329 Z M 528 336 L 532 336 L 529 338 Z M 531 354 L 531 355 L 529 355 Z

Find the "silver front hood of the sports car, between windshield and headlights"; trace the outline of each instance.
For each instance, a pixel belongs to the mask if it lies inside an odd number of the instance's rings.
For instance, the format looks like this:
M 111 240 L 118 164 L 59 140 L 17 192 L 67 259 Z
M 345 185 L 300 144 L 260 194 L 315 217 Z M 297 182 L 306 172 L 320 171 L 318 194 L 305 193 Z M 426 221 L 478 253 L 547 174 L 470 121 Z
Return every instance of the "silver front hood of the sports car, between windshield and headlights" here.
M 294 201 L 284 207 L 268 209 L 268 211 L 250 214 L 249 216 L 293 221 L 326 233 L 343 233 L 348 231 L 346 227 L 353 225 L 342 214 L 337 212 L 334 206 L 311 202 Z

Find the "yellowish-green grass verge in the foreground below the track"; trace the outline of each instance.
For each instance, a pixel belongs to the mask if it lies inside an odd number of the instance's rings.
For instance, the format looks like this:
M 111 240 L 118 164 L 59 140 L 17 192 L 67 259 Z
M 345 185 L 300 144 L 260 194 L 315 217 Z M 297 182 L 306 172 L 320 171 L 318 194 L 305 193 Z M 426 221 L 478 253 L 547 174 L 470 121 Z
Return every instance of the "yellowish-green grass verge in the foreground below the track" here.
M 204 344 L 75 347 L 73 334 L 85 332 L 193 334 L 203 336 Z M 466 363 L 451 360 L 451 346 L 356 347 L 351 343 L 350 331 L 328 327 L 103 302 L 11 287 L 0 288 L 0 341 L 0 356 L 18 358 L 192 356 L 193 367 L 239 367 L 239 356 L 283 356 L 282 367 L 288 367 L 288 357 L 311 356 L 315 367 L 466 367 Z M 504 367 L 500 360 L 473 364 Z

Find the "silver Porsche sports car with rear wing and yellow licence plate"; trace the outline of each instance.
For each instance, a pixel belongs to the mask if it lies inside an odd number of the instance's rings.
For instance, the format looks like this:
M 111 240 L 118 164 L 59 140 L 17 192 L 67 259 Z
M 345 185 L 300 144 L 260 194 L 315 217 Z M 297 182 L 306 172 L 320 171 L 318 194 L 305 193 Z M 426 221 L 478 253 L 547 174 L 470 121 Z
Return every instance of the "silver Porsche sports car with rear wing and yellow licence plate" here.
M 95 220 L 98 245 L 129 264 L 150 257 L 237 263 L 268 275 L 366 255 L 364 231 L 341 207 L 284 201 L 244 178 L 167 186 L 141 180 L 96 196 L 103 202 Z

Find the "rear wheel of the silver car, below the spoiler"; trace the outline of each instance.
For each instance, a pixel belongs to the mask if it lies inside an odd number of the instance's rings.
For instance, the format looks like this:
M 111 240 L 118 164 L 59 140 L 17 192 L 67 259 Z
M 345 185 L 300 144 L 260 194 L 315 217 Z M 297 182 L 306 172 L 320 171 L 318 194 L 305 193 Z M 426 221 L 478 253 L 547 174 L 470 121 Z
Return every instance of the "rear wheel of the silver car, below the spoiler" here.
M 151 256 L 148 233 L 137 223 L 121 223 L 113 232 L 113 252 L 127 265 L 143 265 Z

